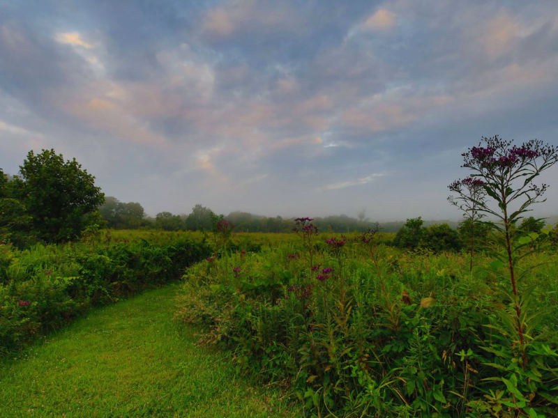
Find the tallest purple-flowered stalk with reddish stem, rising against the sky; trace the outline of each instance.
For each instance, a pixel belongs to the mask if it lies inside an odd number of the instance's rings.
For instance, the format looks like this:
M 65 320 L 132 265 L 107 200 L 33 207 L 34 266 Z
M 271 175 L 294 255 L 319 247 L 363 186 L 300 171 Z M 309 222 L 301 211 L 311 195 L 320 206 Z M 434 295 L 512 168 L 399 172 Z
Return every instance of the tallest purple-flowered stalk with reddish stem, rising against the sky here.
M 536 139 L 519 147 L 512 145 L 513 141 L 504 141 L 497 136 L 483 138 L 483 142 L 462 154 L 462 167 L 472 171 L 473 179 L 484 183 L 483 189 L 492 198 L 492 201 L 484 200 L 474 194 L 469 196 L 469 202 L 476 205 L 478 212 L 498 220 L 488 224 L 492 229 L 499 231 L 500 242 L 505 251 L 504 254 L 495 252 L 492 255 L 506 265 L 509 273 L 512 288 L 510 297 L 515 309 L 516 332 L 522 350 L 522 366 L 525 369 L 527 316 L 522 314 L 524 301 L 518 291 L 518 281 L 522 279 L 523 274 L 518 275 L 516 268 L 518 261 L 531 254 L 531 251 L 522 251 L 527 243 L 520 240 L 515 242 L 514 226 L 525 212 L 531 210 L 531 205 L 545 200 L 542 196 L 548 185 L 538 186 L 533 180 L 558 161 L 558 150 Z

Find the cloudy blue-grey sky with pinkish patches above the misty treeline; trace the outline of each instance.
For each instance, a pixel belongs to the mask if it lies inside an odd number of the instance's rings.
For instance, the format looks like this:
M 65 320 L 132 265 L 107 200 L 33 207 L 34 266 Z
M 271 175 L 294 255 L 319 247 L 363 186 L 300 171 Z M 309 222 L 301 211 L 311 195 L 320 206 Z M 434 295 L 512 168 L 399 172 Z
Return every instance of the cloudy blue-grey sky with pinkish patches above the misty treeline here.
M 558 145 L 556 0 L 0 0 L 0 167 L 54 148 L 149 215 L 459 219 L 495 134 Z

